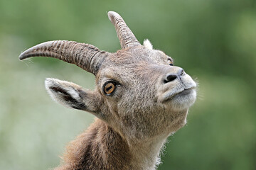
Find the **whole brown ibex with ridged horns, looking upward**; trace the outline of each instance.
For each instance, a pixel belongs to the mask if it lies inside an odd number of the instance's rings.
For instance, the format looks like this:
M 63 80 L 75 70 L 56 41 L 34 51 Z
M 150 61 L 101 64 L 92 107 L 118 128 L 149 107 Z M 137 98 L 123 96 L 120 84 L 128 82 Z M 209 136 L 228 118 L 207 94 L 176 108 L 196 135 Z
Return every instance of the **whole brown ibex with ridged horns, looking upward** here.
M 121 16 L 108 12 L 122 50 L 105 52 L 89 44 L 55 40 L 22 52 L 28 57 L 53 57 L 95 75 L 96 89 L 46 79 L 54 101 L 97 117 L 70 142 L 56 169 L 156 169 L 167 137 L 186 124 L 196 101 L 196 83 L 173 59 L 141 45 Z

